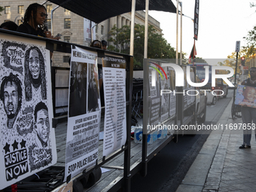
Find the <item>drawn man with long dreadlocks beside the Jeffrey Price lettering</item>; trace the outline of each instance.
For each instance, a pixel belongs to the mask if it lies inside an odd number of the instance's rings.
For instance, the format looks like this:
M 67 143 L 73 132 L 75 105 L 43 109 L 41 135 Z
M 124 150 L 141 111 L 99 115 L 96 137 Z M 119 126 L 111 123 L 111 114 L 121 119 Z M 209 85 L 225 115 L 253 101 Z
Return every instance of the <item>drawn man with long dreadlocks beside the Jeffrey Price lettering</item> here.
M 26 50 L 24 68 L 26 101 L 47 99 L 44 56 L 38 47 Z

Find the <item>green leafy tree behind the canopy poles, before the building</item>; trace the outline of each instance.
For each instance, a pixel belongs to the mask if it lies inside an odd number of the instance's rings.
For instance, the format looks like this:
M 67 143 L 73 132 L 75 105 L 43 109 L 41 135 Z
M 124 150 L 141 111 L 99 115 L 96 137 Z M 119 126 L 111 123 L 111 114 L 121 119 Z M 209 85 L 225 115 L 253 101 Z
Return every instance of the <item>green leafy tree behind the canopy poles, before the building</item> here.
M 123 26 L 117 28 L 114 26 L 110 32 L 111 38 L 109 42 L 113 45 L 108 46 L 108 50 L 129 53 L 130 50 L 130 26 Z M 144 40 L 145 40 L 145 26 L 136 24 L 134 27 L 134 67 L 142 68 L 144 58 Z M 182 55 L 182 57 L 184 54 Z M 151 59 L 174 59 L 175 50 L 163 38 L 162 35 L 157 34 L 153 26 L 148 26 L 148 58 Z

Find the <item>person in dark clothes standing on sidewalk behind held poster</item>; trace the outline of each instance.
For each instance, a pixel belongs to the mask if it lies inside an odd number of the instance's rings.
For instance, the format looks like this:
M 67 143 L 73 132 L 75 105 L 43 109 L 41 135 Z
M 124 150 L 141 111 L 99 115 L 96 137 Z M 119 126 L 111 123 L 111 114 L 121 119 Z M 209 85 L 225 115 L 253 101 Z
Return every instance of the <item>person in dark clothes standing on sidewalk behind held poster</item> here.
M 242 81 L 242 85 L 256 87 L 256 67 L 251 67 L 250 78 Z M 241 112 L 242 123 L 246 125 L 246 129 L 243 130 L 243 144 L 239 148 L 251 148 L 251 121 L 256 123 L 256 108 L 242 106 Z

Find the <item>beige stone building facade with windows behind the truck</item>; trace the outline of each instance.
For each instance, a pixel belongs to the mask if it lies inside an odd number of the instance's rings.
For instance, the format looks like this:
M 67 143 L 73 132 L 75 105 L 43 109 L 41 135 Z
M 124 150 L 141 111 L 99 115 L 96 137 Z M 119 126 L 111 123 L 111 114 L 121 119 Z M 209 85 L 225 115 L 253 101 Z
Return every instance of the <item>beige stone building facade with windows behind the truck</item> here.
M 62 34 L 62 37 L 59 41 L 66 41 L 74 44 L 81 44 L 84 46 L 90 46 L 90 41 L 84 39 L 84 18 L 78 16 L 77 14 L 72 13 L 65 8 L 56 8 L 57 5 L 46 2 L 46 1 L 20 1 L 20 0 L 0 0 L 0 6 L 5 8 L 1 12 L 0 23 L 3 23 L 8 20 L 12 20 L 18 25 L 23 23 L 23 17 L 26 11 L 26 8 L 37 2 L 38 4 L 44 4 L 47 8 L 47 26 L 49 31 L 52 31 L 53 35 L 57 33 Z M 51 17 L 51 11 L 53 11 L 53 17 Z M 53 20 L 51 20 L 53 18 Z M 108 40 L 108 32 L 114 25 L 117 25 L 118 28 L 124 25 L 130 25 L 131 13 L 121 14 L 117 17 L 111 17 L 108 20 L 103 21 L 102 23 L 96 24 L 96 39 L 98 40 Z M 161 34 L 162 29 L 160 29 L 160 23 L 157 20 L 154 20 L 153 17 L 148 18 L 149 24 L 154 26 L 157 30 L 157 33 Z M 53 26 L 51 26 L 53 23 Z M 135 23 L 144 25 L 145 23 L 145 12 L 136 11 Z M 53 66 L 68 67 L 69 66 L 69 53 L 53 53 Z

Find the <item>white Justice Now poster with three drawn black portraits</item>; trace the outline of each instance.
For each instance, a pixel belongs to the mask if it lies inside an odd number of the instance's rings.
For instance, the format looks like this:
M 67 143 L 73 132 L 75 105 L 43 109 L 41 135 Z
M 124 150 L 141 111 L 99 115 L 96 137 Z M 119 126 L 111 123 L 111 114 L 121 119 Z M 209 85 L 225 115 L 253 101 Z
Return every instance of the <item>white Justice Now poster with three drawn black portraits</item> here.
M 2 189 L 56 163 L 45 42 L 1 34 L 0 86 Z

